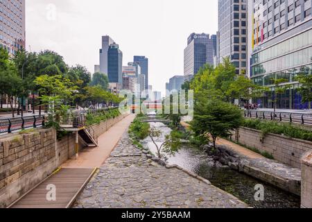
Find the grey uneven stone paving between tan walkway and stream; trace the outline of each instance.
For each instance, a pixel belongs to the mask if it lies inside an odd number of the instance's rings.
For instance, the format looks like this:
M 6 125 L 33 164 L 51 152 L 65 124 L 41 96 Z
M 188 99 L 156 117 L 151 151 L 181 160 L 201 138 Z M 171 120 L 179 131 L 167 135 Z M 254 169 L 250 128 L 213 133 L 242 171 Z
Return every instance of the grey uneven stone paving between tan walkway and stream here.
M 153 162 L 130 143 L 125 133 L 74 207 L 247 207 L 207 180 Z

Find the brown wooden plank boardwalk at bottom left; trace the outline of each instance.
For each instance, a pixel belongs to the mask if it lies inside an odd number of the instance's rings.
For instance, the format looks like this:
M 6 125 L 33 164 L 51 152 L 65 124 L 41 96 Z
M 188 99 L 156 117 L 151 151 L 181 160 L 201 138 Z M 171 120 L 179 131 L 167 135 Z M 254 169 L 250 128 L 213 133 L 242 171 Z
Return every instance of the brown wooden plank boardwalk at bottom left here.
M 60 169 L 21 196 L 12 208 L 68 208 L 87 185 L 96 169 Z M 49 185 L 55 186 L 55 200 L 47 200 Z

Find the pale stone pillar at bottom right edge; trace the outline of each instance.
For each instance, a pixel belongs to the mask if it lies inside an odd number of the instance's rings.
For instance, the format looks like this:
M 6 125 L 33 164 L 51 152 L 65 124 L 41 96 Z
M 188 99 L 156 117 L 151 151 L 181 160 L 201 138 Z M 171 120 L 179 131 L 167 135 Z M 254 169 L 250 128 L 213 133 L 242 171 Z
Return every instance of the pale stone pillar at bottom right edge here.
M 301 206 L 312 208 L 312 151 L 302 158 Z

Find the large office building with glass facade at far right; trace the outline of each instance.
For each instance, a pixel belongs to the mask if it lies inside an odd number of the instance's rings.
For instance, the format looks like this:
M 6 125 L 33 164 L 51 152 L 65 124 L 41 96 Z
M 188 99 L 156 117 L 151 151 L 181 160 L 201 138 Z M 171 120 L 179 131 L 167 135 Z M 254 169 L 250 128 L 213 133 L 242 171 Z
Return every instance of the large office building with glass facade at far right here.
M 275 91 L 276 79 L 286 79 L 290 89 L 278 95 L 277 108 L 306 109 L 297 92 L 298 74 L 312 74 L 311 0 L 259 0 L 254 3 L 254 52 L 251 78 L 257 85 Z M 272 94 L 254 99 L 263 108 L 273 108 Z

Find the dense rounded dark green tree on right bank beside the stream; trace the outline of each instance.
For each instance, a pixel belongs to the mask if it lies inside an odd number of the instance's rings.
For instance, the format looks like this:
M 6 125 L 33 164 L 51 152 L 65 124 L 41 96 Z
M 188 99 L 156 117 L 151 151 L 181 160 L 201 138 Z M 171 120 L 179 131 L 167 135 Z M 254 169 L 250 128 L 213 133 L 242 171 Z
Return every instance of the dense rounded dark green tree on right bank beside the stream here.
M 218 100 L 200 100 L 196 101 L 191 129 L 202 144 L 209 142 L 211 137 L 216 148 L 216 139 L 228 137 L 242 122 L 243 115 L 236 106 Z

